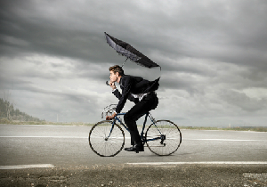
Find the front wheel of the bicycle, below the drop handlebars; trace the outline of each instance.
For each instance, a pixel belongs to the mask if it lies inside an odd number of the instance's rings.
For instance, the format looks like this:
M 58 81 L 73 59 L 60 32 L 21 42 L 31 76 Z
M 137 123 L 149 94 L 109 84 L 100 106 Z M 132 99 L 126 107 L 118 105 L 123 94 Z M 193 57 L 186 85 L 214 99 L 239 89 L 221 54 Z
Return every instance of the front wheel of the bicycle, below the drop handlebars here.
M 111 128 L 113 126 L 113 130 Z M 125 146 L 125 133 L 117 124 L 104 120 L 95 124 L 89 132 L 89 145 L 101 157 L 114 157 Z

